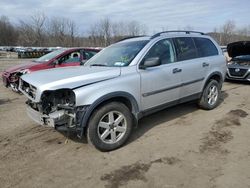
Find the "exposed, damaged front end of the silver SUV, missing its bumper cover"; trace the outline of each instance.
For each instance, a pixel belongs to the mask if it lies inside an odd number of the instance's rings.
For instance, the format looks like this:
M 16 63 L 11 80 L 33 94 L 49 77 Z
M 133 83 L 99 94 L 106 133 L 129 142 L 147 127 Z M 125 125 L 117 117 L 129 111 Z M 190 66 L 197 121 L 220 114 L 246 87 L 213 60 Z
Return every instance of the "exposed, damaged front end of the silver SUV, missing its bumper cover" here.
M 63 131 L 77 131 L 82 136 L 81 120 L 87 106 L 75 106 L 75 93 L 71 89 L 45 91 L 39 103 L 26 102 L 30 118 L 43 126 Z

